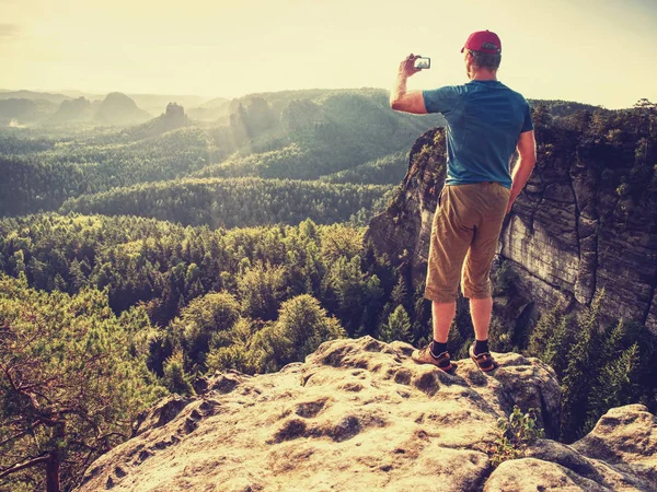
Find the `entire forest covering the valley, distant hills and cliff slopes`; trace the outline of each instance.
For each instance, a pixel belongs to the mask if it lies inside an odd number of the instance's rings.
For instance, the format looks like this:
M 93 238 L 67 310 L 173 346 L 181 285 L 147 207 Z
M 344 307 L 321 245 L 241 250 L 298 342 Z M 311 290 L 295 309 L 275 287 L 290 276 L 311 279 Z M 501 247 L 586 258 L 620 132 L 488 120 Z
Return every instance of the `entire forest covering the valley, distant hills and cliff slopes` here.
M 424 286 L 364 236 L 440 121 L 391 112 L 378 90 L 227 105 L 215 124 L 0 129 L 0 490 L 71 490 L 140 411 L 209 372 L 278 371 L 338 337 L 430 340 Z M 657 213 L 654 105 L 546 102 L 533 117 L 541 152 L 574 134 L 631 145 L 631 169 L 596 172 Z M 504 265 L 493 280 L 514 295 Z M 610 407 L 657 410 L 655 336 L 625 319 L 599 330 L 601 302 L 525 331 L 492 325 L 493 350 L 555 368 L 565 442 Z M 449 343 L 463 358 L 459 306 Z

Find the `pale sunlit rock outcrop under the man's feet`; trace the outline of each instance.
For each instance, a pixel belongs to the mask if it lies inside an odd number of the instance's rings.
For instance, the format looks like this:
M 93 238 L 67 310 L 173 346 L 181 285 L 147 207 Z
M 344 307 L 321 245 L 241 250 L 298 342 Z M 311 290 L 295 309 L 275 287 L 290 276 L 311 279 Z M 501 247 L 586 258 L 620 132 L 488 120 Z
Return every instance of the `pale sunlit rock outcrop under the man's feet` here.
M 226 372 L 196 399 L 171 397 L 88 470 L 81 491 L 657 490 L 657 418 L 609 411 L 573 445 L 543 438 L 491 465 L 514 405 L 558 427 L 560 387 L 537 359 L 497 354 L 482 374 L 416 364 L 369 336 L 322 343 L 304 363 Z

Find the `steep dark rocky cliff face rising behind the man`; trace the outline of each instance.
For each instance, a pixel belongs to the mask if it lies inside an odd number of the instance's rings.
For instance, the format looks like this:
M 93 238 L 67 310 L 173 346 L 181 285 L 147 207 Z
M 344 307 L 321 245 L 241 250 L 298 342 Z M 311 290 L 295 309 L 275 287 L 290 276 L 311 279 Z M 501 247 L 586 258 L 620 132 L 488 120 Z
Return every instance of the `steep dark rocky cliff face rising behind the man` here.
M 499 259 L 519 273 L 518 291 L 542 308 L 556 302 L 577 308 L 604 290 L 603 315 L 657 331 L 655 211 L 619 187 L 632 172 L 635 147 L 540 137 L 537 166 L 498 247 Z M 368 231 L 379 250 L 408 262 L 415 285 L 426 277 L 445 155 L 443 129 L 423 134 L 393 203 Z

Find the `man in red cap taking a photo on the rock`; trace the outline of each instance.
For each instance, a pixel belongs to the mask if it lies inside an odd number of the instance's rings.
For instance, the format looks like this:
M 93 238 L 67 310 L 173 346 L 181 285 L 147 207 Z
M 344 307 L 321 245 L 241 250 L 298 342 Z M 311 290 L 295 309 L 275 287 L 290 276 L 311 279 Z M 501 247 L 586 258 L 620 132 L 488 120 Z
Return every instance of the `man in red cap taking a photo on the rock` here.
M 457 368 L 447 351 L 447 338 L 460 277 L 475 331 L 470 356 L 483 372 L 497 367 L 488 351 L 491 262 L 504 216 L 535 163 L 529 105 L 497 80 L 499 37 L 491 31 L 472 33 L 461 52 L 469 83 L 406 92 L 408 77 L 420 71 L 414 68 L 418 57 L 410 55 L 400 63 L 390 96 L 395 110 L 441 113 L 447 120 L 447 178 L 434 215 L 424 293 L 433 302 L 434 340 L 412 354 L 415 362 L 434 364 L 447 373 Z M 516 149 L 519 162 L 511 176 L 509 164 Z

